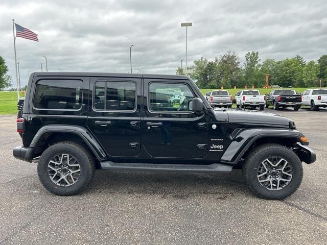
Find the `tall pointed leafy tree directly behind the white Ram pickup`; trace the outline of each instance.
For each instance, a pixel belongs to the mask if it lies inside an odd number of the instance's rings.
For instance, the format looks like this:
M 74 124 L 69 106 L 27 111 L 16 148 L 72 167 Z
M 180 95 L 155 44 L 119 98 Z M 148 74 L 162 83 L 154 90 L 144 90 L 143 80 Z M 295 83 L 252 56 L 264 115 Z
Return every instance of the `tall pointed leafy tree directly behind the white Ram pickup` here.
M 244 81 L 246 85 L 262 87 L 265 84 L 264 76 L 261 72 L 259 52 L 248 52 L 244 62 Z

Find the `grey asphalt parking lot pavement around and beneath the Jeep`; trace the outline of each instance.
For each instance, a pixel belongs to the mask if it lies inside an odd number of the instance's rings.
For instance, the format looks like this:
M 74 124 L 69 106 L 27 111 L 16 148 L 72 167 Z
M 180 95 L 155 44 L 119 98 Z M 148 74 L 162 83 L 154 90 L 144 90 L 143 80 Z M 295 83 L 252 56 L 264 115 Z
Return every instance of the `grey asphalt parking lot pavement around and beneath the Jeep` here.
M 0 244 L 327 244 L 327 110 L 292 118 L 317 161 L 284 201 L 254 197 L 240 170 L 181 174 L 97 170 L 91 186 L 58 197 L 36 163 L 19 161 L 15 115 L 0 116 Z

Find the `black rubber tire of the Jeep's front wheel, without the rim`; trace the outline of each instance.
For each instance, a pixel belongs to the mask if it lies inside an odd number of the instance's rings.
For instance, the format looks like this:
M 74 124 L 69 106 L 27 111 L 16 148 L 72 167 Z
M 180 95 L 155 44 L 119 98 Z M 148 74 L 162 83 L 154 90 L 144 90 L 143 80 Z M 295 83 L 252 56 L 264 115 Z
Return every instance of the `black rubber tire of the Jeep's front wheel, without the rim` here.
M 263 187 L 258 180 L 258 169 L 260 164 L 269 157 L 282 157 L 292 167 L 293 176 L 290 183 L 280 190 L 269 190 Z M 298 156 L 280 144 L 263 144 L 249 153 L 242 166 L 242 175 L 246 185 L 259 198 L 280 200 L 289 197 L 300 186 L 303 177 L 303 168 Z

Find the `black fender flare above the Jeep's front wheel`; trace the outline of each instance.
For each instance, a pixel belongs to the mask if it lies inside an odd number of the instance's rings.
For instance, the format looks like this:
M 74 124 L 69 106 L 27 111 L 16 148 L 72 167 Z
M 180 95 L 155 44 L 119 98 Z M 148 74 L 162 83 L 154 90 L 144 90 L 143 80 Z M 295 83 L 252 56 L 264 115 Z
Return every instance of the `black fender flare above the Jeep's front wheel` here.
M 237 135 L 233 137 L 232 142 L 222 155 L 220 162 L 227 164 L 237 164 L 244 153 L 252 145 L 252 143 L 263 137 L 275 138 L 292 138 L 296 142 L 300 141 L 300 137 L 304 135 L 297 130 L 288 129 L 243 129 L 239 130 Z

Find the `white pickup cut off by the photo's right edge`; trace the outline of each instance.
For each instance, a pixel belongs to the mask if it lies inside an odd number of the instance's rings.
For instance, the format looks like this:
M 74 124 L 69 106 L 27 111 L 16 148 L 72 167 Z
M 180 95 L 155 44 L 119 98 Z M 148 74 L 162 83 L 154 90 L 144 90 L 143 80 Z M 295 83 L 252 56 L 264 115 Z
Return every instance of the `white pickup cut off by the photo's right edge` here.
M 302 105 L 310 106 L 312 111 L 327 107 L 327 89 L 307 89 L 302 93 Z

